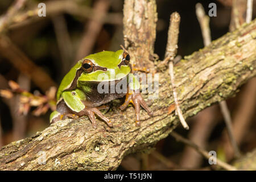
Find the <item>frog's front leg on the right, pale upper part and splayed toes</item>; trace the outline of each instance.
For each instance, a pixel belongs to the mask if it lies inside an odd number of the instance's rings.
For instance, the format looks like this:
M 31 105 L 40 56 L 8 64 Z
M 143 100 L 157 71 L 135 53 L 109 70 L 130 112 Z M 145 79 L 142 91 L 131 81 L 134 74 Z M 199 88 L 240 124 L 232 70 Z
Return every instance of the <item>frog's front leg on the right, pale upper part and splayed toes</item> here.
M 148 107 L 147 103 L 142 98 L 141 93 L 139 93 L 139 81 L 133 74 L 129 75 L 129 92 L 126 94 L 125 102 L 119 108 L 123 110 L 130 103 L 134 105 L 136 126 L 141 126 L 141 118 L 139 116 L 141 106 L 147 111 L 150 117 L 153 116 L 153 112 L 150 107 Z

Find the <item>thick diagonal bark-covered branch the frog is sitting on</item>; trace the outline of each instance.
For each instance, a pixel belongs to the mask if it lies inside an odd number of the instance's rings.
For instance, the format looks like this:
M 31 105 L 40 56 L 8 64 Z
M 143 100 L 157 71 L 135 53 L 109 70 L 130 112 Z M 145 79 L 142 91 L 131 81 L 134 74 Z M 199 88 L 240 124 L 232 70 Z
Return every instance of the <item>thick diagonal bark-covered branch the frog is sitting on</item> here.
M 256 75 L 256 20 L 185 56 L 174 67 L 180 107 L 191 117 L 216 102 L 234 96 L 240 86 Z M 146 100 L 147 95 L 143 95 Z M 141 111 L 142 125 L 135 126 L 134 109 L 118 109 L 112 102 L 106 113 L 114 127 L 87 117 L 67 119 L 34 136 L 12 142 L 0 150 L 0 170 L 110 170 L 131 152 L 147 151 L 175 129 L 175 112 L 168 71 L 159 73 L 159 98 L 147 100 L 154 117 Z M 42 164 L 43 159 L 46 163 Z M 41 164 L 40 164 L 41 163 Z

